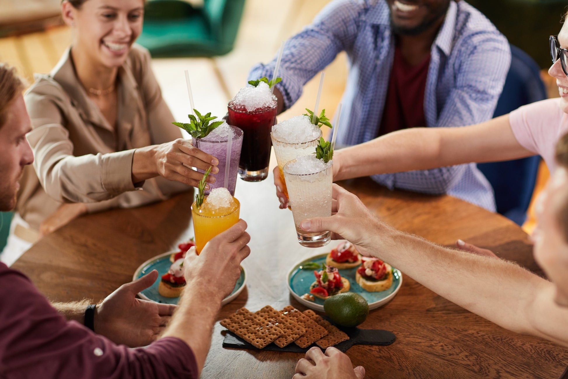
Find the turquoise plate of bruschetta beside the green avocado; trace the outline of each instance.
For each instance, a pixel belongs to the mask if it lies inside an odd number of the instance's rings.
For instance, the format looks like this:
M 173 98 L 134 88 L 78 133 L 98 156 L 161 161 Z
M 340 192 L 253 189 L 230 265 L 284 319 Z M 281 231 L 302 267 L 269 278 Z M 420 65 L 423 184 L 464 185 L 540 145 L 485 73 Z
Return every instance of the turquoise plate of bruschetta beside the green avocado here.
M 302 263 L 306 262 L 316 262 L 321 265 L 321 263 L 325 263 L 325 257 L 327 257 L 327 254 L 328 253 L 318 254 L 317 256 L 303 259 L 301 262 L 292 266 L 292 269 L 288 273 L 288 289 L 292 296 L 306 307 L 321 312 L 324 311 L 324 300 L 315 298 L 315 301 L 311 302 L 310 300 L 302 299 L 301 297 L 303 294 L 310 293 L 310 286 L 315 282 L 316 278 L 314 276 L 314 270 L 302 270 L 300 269 L 300 266 L 302 266 Z M 350 289 L 348 292 L 354 292 L 363 296 L 365 300 L 367 300 L 367 303 L 369 303 L 369 309 L 374 309 L 390 302 L 402 285 L 402 273 L 393 267 L 392 286 L 390 289 L 381 292 L 367 292 L 355 281 L 356 271 L 357 267 L 354 269 L 339 270 L 339 274 L 341 277 L 349 280 Z

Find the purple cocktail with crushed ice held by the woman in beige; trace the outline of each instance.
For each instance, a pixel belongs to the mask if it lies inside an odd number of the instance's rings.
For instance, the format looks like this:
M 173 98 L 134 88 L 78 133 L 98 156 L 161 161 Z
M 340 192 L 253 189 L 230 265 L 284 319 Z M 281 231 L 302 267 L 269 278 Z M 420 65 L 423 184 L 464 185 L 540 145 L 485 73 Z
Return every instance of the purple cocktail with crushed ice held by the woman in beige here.
M 231 136 L 231 154 L 229 162 L 227 162 L 229 135 Z M 215 183 L 209 184 L 210 190 L 206 190 L 205 194 L 208 195 L 214 188 L 224 186 L 225 169 L 227 168 L 227 163 L 229 163 L 227 189 L 231 195 L 235 195 L 237 171 L 239 170 L 239 158 L 241 155 L 241 146 L 243 145 L 243 130 L 223 122 L 207 134 L 206 137 L 194 138 L 194 141 L 195 147 L 204 153 L 215 156 L 215 158 L 219 160 L 219 164 L 217 165 L 219 172 L 217 174 L 211 174 L 215 177 Z M 198 171 L 204 172 L 203 170 Z

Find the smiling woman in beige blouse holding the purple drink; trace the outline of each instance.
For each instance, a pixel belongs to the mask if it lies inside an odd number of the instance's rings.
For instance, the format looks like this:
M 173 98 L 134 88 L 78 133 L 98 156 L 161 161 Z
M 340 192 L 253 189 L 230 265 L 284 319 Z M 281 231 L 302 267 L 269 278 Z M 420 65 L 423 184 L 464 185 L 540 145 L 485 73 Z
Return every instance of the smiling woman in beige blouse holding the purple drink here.
M 197 186 L 202 174 L 186 166 L 218 171 L 214 156 L 181 139 L 148 51 L 133 46 L 144 1 L 65 0 L 61 10 L 73 44 L 25 96 L 35 162 L 20 182 L 3 261 L 83 213 L 136 207 Z

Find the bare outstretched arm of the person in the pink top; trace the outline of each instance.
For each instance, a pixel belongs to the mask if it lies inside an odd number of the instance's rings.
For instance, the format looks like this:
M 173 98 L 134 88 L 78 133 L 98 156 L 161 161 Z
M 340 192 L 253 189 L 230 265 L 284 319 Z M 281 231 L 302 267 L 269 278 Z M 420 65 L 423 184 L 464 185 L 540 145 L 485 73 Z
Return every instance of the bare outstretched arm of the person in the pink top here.
M 534 155 L 517 142 L 509 116 L 465 127 L 416 127 L 337 150 L 333 180 Z

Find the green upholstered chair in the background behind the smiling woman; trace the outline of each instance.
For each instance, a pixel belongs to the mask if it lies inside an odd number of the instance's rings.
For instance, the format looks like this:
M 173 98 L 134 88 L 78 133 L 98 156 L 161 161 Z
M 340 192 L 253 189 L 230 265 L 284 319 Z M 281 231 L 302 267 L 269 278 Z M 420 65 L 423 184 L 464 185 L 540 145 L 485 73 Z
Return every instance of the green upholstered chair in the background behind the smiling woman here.
M 154 57 L 215 56 L 232 50 L 245 0 L 204 0 L 195 8 L 182 0 L 146 4 L 137 42 Z

